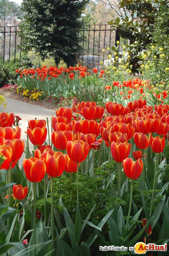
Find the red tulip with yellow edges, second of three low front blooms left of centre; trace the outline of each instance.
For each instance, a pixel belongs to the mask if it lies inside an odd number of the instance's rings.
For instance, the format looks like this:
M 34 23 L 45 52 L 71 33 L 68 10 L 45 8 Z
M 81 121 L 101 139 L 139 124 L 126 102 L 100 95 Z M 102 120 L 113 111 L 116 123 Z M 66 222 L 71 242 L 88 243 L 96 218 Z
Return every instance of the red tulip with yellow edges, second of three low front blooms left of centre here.
M 55 152 L 46 159 L 46 172 L 52 177 L 59 177 L 65 169 L 66 157 L 62 152 Z

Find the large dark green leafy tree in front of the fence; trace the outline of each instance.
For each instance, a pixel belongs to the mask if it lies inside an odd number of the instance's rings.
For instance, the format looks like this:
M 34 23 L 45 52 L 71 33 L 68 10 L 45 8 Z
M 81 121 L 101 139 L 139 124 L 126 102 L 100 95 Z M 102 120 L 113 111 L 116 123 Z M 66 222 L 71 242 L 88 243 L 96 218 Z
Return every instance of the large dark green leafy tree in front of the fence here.
M 35 48 L 43 58 L 49 52 L 56 63 L 73 65 L 79 48 L 81 13 L 89 0 L 23 0 L 22 50 Z

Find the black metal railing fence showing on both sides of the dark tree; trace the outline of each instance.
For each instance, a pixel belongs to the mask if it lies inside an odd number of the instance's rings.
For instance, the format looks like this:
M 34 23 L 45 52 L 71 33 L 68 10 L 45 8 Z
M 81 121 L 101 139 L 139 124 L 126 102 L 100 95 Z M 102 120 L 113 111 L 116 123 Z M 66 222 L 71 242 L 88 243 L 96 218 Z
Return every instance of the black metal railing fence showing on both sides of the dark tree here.
M 0 59 L 3 59 L 3 63 L 21 58 L 21 50 L 18 48 L 22 41 L 18 33 L 20 31 L 19 26 L 0 26 Z M 118 33 L 112 32 L 108 24 L 83 25 L 79 36 L 82 39 L 79 58 L 88 67 L 98 66 L 110 54 L 107 48 L 115 45 L 117 40 L 120 41 Z

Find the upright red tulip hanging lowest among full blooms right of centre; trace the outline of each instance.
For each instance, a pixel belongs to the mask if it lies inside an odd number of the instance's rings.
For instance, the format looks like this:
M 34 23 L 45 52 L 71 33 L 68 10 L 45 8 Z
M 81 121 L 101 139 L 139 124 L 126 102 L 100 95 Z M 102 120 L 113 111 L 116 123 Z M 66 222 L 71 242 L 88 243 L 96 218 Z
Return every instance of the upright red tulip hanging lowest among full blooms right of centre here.
M 137 161 L 133 161 L 132 158 L 126 158 L 123 161 L 123 169 L 127 178 L 131 180 L 136 180 L 139 178 L 143 171 L 143 162 L 141 158 Z

